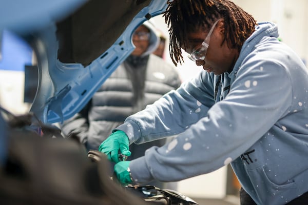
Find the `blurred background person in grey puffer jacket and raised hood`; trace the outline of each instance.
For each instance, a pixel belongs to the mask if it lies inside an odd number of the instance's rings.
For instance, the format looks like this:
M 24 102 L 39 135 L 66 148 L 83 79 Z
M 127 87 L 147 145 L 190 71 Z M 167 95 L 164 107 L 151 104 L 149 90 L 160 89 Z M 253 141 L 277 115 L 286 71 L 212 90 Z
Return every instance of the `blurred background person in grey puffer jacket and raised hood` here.
M 101 142 L 126 117 L 143 110 L 181 84 L 175 67 L 152 54 L 160 40 L 151 22 L 144 22 L 134 31 L 132 42 L 136 49 L 131 55 L 104 82 L 87 106 L 61 126 L 64 136 L 74 134 L 88 150 L 98 150 Z M 165 141 L 131 144 L 133 154 L 128 160 L 143 156 L 150 147 L 163 146 Z M 164 186 L 158 181 L 147 185 Z

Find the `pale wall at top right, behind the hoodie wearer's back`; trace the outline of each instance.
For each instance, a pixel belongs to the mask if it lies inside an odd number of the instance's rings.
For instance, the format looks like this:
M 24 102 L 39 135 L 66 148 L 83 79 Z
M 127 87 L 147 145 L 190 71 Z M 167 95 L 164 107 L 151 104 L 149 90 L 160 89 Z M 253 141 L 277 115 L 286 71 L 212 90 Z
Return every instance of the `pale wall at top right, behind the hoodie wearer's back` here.
M 234 0 L 233 2 L 251 13 L 259 22 L 276 23 L 282 42 L 290 46 L 304 61 L 308 59 L 307 0 Z

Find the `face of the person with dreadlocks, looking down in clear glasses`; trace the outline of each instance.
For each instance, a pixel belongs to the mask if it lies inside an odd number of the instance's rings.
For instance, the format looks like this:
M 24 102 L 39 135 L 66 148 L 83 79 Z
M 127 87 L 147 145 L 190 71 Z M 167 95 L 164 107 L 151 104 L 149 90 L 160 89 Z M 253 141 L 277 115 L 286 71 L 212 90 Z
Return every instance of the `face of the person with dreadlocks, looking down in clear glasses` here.
M 212 27 L 212 33 L 209 33 L 211 28 L 199 28 L 195 32 L 188 33 L 187 48 L 183 49 L 191 54 L 192 58 L 190 58 L 197 66 L 202 66 L 208 73 L 213 72 L 215 75 L 220 75 L 232 71 L 238 58 L 238 51 L 230 49 L 226 40 L 222 44 L 225 34 L 223 19 L 218 20 L 217 24 Z M 206 43 L 208 44 L 207 49 Z

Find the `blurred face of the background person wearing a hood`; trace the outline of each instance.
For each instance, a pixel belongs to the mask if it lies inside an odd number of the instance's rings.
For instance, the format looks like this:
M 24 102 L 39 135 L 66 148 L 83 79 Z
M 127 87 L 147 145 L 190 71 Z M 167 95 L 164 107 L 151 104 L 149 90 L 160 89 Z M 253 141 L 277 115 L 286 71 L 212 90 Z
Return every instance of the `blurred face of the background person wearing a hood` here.
M 149 46 L 150 33 L 149 29 L 141 25 L 132 35 L 132 43 L 136 46 L 131 55 L 142 55 Z

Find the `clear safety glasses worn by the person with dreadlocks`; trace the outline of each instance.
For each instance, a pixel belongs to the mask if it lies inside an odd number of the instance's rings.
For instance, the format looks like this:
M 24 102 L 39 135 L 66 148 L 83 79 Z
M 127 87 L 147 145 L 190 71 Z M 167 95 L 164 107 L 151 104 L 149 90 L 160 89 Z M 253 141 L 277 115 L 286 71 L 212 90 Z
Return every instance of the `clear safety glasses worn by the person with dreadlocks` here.
M 209 40 L 210 40 L 210 36 L 211 33 L 213 32 L 216 24 L 219 22 L 219 20 L 221 20 L 222 18 L 219 18 L 214 24 L 213 26 L 210 28 L 207 36 L 205 37 L 205 39 L 203 40 L 201 47 L 198 49 L 195 49 L 194 51 L 192 51 L 191 54 L 188 55 L 188 58 L 194 62 L 196 62 L 196 60 L 204 60 L 205 59 L 205 55 L 207 52 L 207 48 L 208 48 L 208 44 L 209 44 Z

